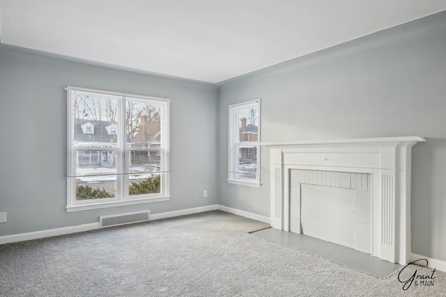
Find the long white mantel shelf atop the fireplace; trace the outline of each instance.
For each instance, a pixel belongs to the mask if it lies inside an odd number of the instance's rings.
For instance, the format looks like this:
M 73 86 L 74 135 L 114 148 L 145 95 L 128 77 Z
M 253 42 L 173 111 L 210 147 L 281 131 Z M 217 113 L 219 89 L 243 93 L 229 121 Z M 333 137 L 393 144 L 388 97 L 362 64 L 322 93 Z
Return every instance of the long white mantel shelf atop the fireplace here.
M 342 144 L 393 144 L 399 143 L 417 143 L 425 142 L 426 139 L 420 136 L 399 136 L 399 137 L 380 137 L 380 138 L 350 138 L 350 139 L 335 139 L 328 141 L 289 141 L 289 142 L 262 142 L 260 145 L 267 147 L 293 147 L 300 145 L 342 145 Z

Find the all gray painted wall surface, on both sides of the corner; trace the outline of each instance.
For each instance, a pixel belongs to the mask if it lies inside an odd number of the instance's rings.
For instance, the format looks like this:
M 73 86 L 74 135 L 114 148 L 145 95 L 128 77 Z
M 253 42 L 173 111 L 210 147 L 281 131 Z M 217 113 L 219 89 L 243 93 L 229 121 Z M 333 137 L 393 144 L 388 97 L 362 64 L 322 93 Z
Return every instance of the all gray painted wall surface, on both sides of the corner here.
M 8 211 L 0 236 L 93 223 L 99 215 L 216 203 L 269 216 L 267 148 L 261 188 L 226 182 L 228 105 L 261 98 L 262 141 L 426 137 L 413 147 L 413 252 L 446 261 L 445 53 L 446 13 L 218 88 L 0 45 L 0 211 Z M 169 202 L 66 212 L 67 85 L 172 99 Z

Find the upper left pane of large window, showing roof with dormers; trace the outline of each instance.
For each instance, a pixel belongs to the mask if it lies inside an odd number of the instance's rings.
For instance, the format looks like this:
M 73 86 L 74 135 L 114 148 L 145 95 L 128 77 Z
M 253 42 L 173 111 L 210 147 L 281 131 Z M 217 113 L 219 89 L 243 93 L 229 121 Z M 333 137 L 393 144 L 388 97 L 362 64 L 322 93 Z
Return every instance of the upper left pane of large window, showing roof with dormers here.
M 116 147 L 118 99 L 75 95 L 75 146 Z

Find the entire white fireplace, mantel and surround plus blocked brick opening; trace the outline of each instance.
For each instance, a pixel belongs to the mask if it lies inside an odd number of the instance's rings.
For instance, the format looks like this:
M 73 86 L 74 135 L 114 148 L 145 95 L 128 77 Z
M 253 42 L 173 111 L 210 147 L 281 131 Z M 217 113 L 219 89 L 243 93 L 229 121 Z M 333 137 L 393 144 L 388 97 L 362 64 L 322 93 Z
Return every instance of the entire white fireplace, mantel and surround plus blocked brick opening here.
M 262 143 L 271 226 L 410 262 L 411 147 L 422 137 Z

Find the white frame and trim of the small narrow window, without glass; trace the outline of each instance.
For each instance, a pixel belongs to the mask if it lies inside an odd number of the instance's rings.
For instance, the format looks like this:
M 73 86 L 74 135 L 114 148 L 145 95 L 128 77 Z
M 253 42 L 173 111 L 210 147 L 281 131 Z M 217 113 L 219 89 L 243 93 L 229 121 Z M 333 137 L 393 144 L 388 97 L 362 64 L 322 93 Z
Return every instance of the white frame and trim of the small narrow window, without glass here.
M 237 113 L 240 111 L 240 109 L 247 109 L 249 107 L 257 107 L 257 117 L 259 121 L 258 131 L 259 136 L 256 142 L 250 142 L 250 143 L 240 143 L 237 141 L 237 138 L 240 139 L 239 133 L 237 132 L 239 129 L 238 126 L 238 116 Z M 261 186 L 261 147 L 259 143 L 261 142 L 261 99 L 252 100 L 249 102 L 242 102 L 238 104 L 232 104 L 229 105 L 229 159 L 228 159 L 228 181 L 229 184 L 238 184 L 242 186 L 252 186 L 259 188 Z M 243 147 L 245 145 L 255 145 L 257 147 L 257 175 L 256 179 L 237 179 L 233 178 L 233 174 L 231 172 L 234 172 L 236 170 L 236 161 L 237 156 L 235 155 L 234 147 L 240 146 Z

